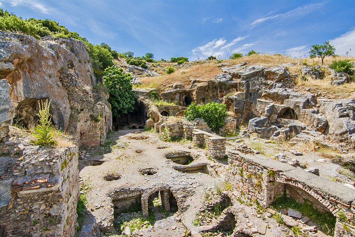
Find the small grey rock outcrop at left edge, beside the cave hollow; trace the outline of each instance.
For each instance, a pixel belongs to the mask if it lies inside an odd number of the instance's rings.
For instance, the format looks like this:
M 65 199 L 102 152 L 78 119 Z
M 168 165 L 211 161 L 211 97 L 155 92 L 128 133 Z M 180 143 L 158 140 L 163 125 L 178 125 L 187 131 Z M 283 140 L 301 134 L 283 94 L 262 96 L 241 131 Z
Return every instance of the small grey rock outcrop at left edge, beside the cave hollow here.
M 9 83 L 5 79 L 0 80 L 0 142 L 9 133 L 9 125 L 15 116 L 9 90 Z

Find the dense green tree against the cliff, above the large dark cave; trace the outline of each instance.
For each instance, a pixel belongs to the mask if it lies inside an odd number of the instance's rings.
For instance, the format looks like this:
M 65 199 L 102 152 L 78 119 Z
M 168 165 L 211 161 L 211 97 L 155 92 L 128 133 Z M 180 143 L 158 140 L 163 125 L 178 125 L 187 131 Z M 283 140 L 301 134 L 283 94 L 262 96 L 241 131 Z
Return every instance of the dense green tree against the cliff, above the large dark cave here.
M 133 110 L 135 103 L 132 91 L 132 75 L 124 73 L 123 68 L 111 66 L 104 71 L 104 85 L 109 92 L 108 102 L 112 106 L 112 114 L 120 117 Z

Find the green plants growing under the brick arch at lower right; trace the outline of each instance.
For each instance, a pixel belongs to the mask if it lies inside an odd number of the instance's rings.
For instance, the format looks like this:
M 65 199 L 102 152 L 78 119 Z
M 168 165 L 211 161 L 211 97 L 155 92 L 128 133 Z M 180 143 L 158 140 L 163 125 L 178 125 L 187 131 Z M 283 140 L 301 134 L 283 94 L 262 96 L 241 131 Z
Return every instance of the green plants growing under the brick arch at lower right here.
M 292 208 L 301 212 L 304 216 L 310 218 L 315 224 L 319 226 L 319 229 L 327 235 L 334 235 L 336 218 L 331 213 L 320 212 L 315 209 L 312 204 L 305 200 L 303 203 L 297 202 L 295 199 L 287 197 L 285 194 L 278 197 L 271 206 L 276 210 L 282 208 Z

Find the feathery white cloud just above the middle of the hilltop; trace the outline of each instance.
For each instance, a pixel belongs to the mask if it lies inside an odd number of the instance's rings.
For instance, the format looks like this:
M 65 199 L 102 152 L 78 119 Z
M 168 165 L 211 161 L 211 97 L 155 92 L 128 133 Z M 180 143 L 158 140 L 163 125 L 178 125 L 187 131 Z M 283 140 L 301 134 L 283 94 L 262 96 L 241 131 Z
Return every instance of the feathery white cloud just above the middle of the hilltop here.
M 248 36 L 239 36 L 233 39 L 231 42 L 227 43 L 227 40 L 224 37 L 219 39 L 213 39 L 207 44 L 193 49 L 191 52 L 196 57 L 208 57 L 208 56 L 220 56 L 224 57 L 228 54 L 236 52 L 236 49 L 232 47 L 239 41 L 245 39 Z M 242 46 L 243 47 L 243 46 Z M 251 47 L 251 46 L 250 46 Z

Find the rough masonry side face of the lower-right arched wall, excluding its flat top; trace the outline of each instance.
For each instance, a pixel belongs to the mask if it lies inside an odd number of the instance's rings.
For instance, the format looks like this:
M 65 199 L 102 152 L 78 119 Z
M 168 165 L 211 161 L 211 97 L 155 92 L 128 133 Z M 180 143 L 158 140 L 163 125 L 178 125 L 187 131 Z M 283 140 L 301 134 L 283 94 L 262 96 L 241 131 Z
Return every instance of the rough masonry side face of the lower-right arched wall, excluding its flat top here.
M 355 233 L 354 201 L 344 203 L 327 194 L 325 190 L 315 190 L 306 183 L 284 175 L 282 171 L 248 161 L 233 151 L 228 152 L 228 157 L 231 170 L 227 181 L 233 183 L 237 193 L 246 195 L 250 200 L 257 199 L 263 207 L 267 207 L 284 193 L 299 202 L 307 200 L 314 208 L 321 212 L 330 212 L 337 218 L 335 237 L 345 234 L 344 226 L 350 229 L 350 233 Z M 347 220 L 339 218 L 340 212 L 345 214 Z

